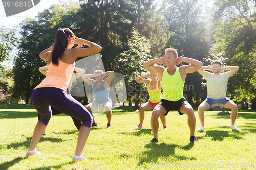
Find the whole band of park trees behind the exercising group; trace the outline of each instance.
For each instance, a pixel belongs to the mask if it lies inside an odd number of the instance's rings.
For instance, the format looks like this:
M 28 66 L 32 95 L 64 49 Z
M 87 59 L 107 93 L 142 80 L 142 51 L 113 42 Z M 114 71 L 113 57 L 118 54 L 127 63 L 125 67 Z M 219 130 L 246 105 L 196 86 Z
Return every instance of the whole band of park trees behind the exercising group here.
M 52 45 L 58 28 L 70 28 L 102 46 L 105 70 L 124 76 L 126 103 L 134 102 L 135 110 L 147 97 L 144 85 L 135 81 L 145 74 L 142 63 L 164 56 L 167 47 L 203 65 L 219 59 L 239 66 L 229 79 L 227 96 L 239 108 L 255 109 L 255 6 L 248 0 L 59 2 L 16 27 L 0 26 L 0 101 L 31 103 L 34 87 L 45 78 L 38 67 L 46 62 L 38 54 Z M 8 60 L 11 67 L 3 64 Z M 205 80 L 198 72 L 187 75 L 184 95 L 194 108 L 206 98 Z M 88 103 L 87 98 L 76 99 Z

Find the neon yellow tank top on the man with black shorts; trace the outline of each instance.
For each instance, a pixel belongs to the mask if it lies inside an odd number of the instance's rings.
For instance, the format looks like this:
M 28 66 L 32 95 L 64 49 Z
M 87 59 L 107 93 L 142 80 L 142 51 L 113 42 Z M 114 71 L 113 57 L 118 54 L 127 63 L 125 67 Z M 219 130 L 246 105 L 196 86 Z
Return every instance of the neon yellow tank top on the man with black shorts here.
M 180 76 L 179 67 L 176 67 L 175 74 L 173 76 L 170 76 L 167 72 L 167 68 L 163 71 L 163 78 L 161 81 L 161 86 L 163 89 L 163 99 L 176 102 L 180 100 L 181 98 L 184 98 L 183 96 L 183 88 L 184 88 L 185 82 L 182 81 Z

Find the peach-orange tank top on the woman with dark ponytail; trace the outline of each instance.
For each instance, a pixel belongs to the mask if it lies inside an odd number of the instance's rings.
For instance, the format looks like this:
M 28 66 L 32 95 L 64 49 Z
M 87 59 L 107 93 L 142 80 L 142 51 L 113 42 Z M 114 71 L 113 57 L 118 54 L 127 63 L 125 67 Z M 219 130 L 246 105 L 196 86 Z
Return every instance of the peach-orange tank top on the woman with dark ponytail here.
M 69 81 L 75 68 L 75 62 L 68 64 L 58 60 L 58 65 L 54 65 L 52 62 L 48 65 L 47 76 L 42 82 L 37 85 L 36 88 L 42 87 L 55 87 L 67 91 Z

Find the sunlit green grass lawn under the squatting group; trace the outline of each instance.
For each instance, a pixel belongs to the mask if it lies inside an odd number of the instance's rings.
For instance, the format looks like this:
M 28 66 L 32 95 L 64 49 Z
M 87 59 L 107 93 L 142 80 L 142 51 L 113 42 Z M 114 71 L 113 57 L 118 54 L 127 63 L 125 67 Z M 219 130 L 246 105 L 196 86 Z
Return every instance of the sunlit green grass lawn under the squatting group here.
M 95 114 L 93 128 L 83 153 L 89 159 L 73 163 L 78 131 L 72 118 L 52 116 L 47 135 L 37 144 L 41 153 L 29 158 L 37 112 L 32 105 L 0 104 L 0 170 L 2 169 L 256 169 L 256 114 L 240 110 L 236 121 L 242 131 L 232 131 L 230 115 L 205 112 L 205 128 L 196 132 L 199 143 L 189 142 L 186 115 L 169 112 L 168 130 L 159 120 L 159 143 L 152 139 L 150 118 L 145 112 L 143 129 L 136 130 L 139 113 L 133 107 L 113 110 L 112 128 L 106 128 L 105 114 Z M 197 126 L 200 126 L 197 111 Z

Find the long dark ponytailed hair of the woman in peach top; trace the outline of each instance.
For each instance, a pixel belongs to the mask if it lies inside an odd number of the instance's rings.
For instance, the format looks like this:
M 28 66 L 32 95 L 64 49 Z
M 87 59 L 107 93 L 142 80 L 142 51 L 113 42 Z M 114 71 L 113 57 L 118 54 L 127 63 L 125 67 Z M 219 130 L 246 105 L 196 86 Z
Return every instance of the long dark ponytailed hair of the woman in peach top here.
M 69 29 L 58 29 L 55 35 L 55 40 L 52 45 L 53 51 L 52 51 L 52 63 L 54 65 L 58 65 L 59 59 L 61 59 L 63 53 L 65 52 L 66 48 L 68 47 L 69 37 L 74 37 L 74 33 Z

